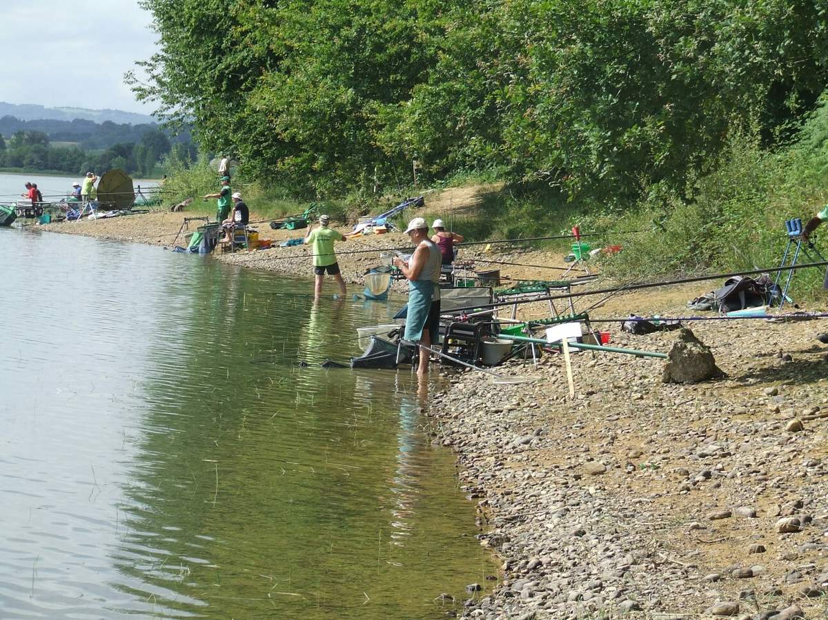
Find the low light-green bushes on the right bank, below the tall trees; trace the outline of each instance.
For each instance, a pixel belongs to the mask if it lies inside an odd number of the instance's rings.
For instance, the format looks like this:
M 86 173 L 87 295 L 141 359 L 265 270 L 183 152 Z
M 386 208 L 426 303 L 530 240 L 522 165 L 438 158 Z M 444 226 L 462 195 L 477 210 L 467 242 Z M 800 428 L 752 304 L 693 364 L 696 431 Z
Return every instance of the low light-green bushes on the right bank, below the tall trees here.
M 608 267 L 626 277 L 778 264 L 785 220 L 810 219 L 828 201 L 828 99 L 819 103 L 785 147 L 768 151 L 758 137 L 734 136 L 690 203 L 650 199 L 623 214 L 582 216 L 592 230 L 645 231 L 623 238 L 624 252 Z M 803 291 L 820 288 L 821 279 L 817 270 L 797 275 Z

